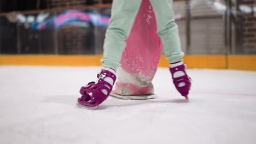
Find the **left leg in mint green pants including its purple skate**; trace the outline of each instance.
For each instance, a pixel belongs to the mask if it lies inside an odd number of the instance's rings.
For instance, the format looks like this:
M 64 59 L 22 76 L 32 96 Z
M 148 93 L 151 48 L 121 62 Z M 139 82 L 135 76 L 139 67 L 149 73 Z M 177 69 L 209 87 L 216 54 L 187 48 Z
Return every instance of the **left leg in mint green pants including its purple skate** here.
M 104 41 L 104 57 L 101 59 L 101 72 L 97 75 L 96 82 L 89 82 L 80 89 L 81 98 L 77 105 L 86 109 L 96 109 L 106 100 L 112 91 L 120 66 L 120 59 L 126 46 L 125 40 L 129 36 L 133 21 L 139 10 L 142 0 L 114 0 L 112 16 Z

